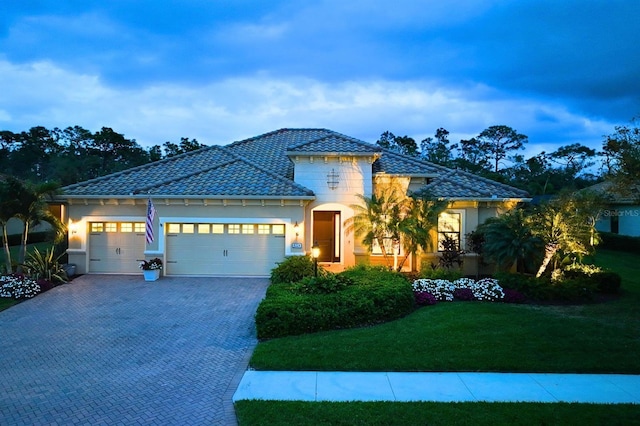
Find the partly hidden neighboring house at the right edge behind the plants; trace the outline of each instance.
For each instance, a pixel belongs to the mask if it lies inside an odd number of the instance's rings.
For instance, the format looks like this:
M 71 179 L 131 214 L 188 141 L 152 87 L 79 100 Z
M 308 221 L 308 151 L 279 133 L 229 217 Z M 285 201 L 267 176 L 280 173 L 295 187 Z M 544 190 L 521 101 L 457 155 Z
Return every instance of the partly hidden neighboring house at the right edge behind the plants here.
M 602 182 L 586 188 L 607 199 L 607 208 L 596 222 L 600 232 L 640 237 L 640 184 L 620 191 L 611 182 Z

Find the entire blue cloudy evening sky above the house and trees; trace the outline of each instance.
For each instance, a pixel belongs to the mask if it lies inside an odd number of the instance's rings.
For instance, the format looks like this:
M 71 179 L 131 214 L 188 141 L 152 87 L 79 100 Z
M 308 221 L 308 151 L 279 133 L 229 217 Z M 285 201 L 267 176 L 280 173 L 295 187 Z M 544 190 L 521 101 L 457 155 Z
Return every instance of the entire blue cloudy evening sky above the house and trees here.
M 144 147 L 283 127 L 527 155 L 640 115 L 636 0 L 2 0 L 0 130 L 111 127 Z

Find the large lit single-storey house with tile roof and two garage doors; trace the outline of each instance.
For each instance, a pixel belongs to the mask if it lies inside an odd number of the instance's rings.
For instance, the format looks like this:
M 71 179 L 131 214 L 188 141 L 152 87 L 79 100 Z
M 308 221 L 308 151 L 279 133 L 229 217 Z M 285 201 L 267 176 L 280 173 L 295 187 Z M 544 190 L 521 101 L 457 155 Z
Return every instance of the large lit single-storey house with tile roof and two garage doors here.
M 69 263 L 78 273 L 138 273 L 160 257 L 165 275 L 267 276 L 286 256 L 309 253 L 340 271 L 376 263 L 345 233 L 357 194 L 390 177 L 451 201 L 438 231 L 459 239 L 527 193 L 400 155 L 325 129 L 281 129 L 211 146 L 63 188 Z M 145 243 L 147 200 L 157 214 Z M 419 267 L 411 259 L 407 268 Z

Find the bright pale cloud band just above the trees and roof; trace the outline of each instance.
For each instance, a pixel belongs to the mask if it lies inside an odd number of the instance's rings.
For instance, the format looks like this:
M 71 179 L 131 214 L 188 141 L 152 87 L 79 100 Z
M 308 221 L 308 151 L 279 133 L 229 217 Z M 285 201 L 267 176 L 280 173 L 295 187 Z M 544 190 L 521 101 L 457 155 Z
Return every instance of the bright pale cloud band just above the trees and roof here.
M 51 62 L 8 61 L 0 61 L 0 75 L 0 128 L 79 125 L 96 131 L 106 126 L 145 146 L 181 137 L 226 144 L 281 127 L 330 128 L 369 142 L 386 130 L 419 142 L 445 127 L 458 141 L 505 124 L 528 135 L 532 146 L 580 142 L 593 147 L 613 130 L 613 123 L 585 118 L 558 103 L 469 83 L 323 82 L 258 73 L 201 85 L 119 88 Z

